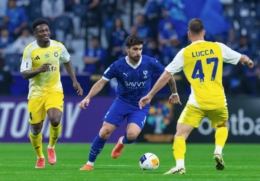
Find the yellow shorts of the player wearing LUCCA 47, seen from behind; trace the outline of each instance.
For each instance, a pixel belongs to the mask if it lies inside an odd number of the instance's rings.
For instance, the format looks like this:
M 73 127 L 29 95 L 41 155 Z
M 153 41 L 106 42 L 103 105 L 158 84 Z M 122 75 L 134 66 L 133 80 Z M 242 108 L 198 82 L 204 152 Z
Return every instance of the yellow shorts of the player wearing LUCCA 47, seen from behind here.
M 198 128 L 199 123 L 205 116 L 208 116 L 208 119 L 211 122 L 211 127 L 215 128 L 217 125 L 227 121 L 227 106 L 216 110 L 201 110 L 192 104 L 186 104 L 177 123 L 182 123 Z

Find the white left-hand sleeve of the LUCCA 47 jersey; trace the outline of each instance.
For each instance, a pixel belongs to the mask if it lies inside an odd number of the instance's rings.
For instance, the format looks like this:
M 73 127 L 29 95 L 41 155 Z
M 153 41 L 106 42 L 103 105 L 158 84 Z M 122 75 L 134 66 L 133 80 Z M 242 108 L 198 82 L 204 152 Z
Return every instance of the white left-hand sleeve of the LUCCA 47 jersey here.
M 168 71 L 171 75 L 174 75 L 175 73 L 183 70 L 183 51 L 184 49 L 181 49 L 180 52 L 178 52 L 174 57 L 173 61 L 165 68 L 165 70 Z

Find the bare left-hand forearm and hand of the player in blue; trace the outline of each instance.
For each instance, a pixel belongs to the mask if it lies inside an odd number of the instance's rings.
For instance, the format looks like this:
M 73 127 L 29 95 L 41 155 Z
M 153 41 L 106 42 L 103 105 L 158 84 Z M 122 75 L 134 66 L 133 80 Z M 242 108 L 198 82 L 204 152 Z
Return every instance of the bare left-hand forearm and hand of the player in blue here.
M 91 90 L 89 91 L 89 94 L 79 103 L 80 109 L 86 109 L 86 106 L 89 105 L 90 98 L 94 97 L 96 94 L 100 92 L 100 90 L 105 86 L 105 84 L 108 83 L 105 79 L 101 78 L 99 81 L 96 82 L 96 84 L 93 85 Z

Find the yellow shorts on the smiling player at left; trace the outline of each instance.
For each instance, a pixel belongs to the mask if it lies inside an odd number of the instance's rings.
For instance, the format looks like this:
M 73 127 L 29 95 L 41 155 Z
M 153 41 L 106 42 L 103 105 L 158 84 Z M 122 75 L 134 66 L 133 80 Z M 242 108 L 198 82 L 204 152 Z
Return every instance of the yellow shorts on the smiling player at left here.
M 61 92 L 50 92 L 44 96 L 29 99 L 29 122 L 31 124 L 36 124 L 42 120 L 45 120 L 47 110 L 52 107 L 55 107 L 63 112 L 63 98 L 64 95 Z

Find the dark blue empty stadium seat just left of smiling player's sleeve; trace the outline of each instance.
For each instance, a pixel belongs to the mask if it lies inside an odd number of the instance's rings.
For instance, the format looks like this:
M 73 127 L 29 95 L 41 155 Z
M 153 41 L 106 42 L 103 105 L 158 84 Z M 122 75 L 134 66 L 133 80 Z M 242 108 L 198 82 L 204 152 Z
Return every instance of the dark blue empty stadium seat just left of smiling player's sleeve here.
M 10 71 L 20 71 L 22 54 L 7 54 L 5 64 L 10 67 Z

